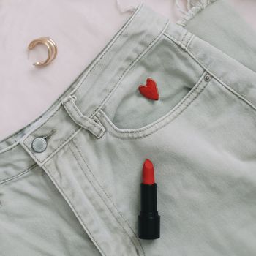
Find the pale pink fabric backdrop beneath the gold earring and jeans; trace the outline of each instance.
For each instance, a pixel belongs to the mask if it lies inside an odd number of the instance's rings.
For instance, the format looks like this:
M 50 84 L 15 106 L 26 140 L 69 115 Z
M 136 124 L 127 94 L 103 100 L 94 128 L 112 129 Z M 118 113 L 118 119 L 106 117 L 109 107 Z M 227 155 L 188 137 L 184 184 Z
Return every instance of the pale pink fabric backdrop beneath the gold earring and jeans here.
M 119 0 L 121 8 L 139 1 Z M 256 29 L 256 1 L 230 0 Z M 175 0 L 144 3 L 176 21 Z M 185 6 L 185 0 L 184 4 Z M 59 97 L 129 18 L 116 0 L 1 0 L 0 2 L 0 139 L 33 121 Z M 36 68 L 47 50 L 38 45 L 28 59 L 27 46 L 51 37 L 59 54 L 52 64 Z

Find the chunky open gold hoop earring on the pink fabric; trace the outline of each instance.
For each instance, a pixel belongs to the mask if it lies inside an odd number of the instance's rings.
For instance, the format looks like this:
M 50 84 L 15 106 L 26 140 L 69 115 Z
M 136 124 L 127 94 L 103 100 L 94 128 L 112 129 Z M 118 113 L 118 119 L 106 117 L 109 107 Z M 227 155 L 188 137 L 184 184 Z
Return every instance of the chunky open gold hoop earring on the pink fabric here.
M 41 67 L 50 64 L 57 56 L 58 49 L 56 43 L 50 37 L 39 37 L 29 43 L 29 50 L 33 49 L 37 44 L 45 45 L 48 48 L 48 57 L 45 61 L 35 62 L 34 66 Z

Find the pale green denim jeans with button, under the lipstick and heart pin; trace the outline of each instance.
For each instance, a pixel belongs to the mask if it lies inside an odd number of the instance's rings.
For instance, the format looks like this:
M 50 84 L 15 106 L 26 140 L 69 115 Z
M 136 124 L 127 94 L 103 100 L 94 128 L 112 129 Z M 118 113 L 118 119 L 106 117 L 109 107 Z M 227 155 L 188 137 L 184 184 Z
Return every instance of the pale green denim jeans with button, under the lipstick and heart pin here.
M 191 31 L 140 5 L 42 116 L 1 141 L 1 256 L 255 255 L 256 74 Z M 148 77 L 158 101 L 138 92 Z M 154 241 L 138 238 L 146 158 Z

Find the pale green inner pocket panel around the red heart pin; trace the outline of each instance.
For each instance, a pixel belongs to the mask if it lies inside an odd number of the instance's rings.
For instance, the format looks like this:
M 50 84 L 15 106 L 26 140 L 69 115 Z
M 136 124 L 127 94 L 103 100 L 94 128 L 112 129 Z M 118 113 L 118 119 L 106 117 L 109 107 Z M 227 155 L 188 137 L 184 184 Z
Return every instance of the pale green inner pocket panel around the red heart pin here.
M 118 129 L 140 129 L 154 124 L 190 94 L 204 71 L 184 49 L 163 34 L 132 64 L 101 110 Z M 158 100 L 147 97 L 139 89 L 146 85 L 148 78 L 157 84 Z

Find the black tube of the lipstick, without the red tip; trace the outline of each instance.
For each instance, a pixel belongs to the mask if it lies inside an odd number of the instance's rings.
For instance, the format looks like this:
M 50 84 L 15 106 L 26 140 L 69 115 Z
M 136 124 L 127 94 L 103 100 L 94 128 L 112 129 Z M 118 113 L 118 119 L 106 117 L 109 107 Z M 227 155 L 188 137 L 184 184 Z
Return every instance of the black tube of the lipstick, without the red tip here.
M 157 211 L 157 184 L 140 184 L 140 215 L 138 216 L 140 239 L 160 237 L 160 216 Z

